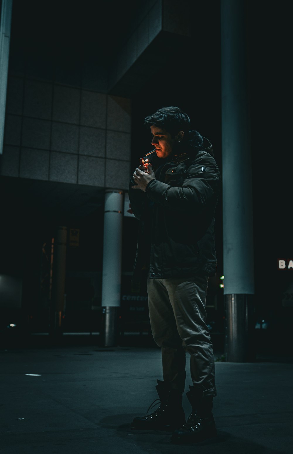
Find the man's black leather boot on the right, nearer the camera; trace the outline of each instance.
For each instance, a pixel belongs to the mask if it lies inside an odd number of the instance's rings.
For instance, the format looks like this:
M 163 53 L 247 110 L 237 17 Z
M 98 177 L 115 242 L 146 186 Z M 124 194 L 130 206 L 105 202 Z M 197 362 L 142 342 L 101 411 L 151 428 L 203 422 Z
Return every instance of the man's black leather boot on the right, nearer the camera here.
M 202 389 L 189 386 L 186 393 L 192 406 L 187 422 L 173 431 L 171 441 L 174 444 L 190 444 L 216 437 L 216 424 L 212 414 L 213 397 L 204 396 Z

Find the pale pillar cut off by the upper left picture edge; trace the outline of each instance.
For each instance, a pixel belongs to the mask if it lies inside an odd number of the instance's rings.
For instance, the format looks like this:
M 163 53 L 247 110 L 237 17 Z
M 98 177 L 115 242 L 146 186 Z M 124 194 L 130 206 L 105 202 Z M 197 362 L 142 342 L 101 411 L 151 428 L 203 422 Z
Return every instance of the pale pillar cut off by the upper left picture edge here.
M 0 22 L 0 154 L 3 151 L 12 0 L 2 0 Z

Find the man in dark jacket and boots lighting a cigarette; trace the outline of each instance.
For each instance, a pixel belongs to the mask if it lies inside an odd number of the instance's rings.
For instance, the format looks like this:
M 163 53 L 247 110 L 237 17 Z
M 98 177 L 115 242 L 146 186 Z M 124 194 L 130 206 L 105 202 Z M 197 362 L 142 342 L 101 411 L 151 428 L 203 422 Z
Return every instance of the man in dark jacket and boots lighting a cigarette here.
M 189 130 L 190 119 L 181 109 L 163 107 L 144 123 L 155 153 L 130 180 L 130 205 L 140 221 L 133 286 L 147 268 L 149 318 L 162 350 L 163 380 L 156 386 L 159 408 L 134 418 L 131 427 L 169 427 L 173 443 L 197 442 L 216 435 L 215 363 L 205 302 L 208 276 L 216 274 L 214 216 L 221 177 L 211 143 Z M 187 421 L 182 406 L 186 351 L 193 384 Z

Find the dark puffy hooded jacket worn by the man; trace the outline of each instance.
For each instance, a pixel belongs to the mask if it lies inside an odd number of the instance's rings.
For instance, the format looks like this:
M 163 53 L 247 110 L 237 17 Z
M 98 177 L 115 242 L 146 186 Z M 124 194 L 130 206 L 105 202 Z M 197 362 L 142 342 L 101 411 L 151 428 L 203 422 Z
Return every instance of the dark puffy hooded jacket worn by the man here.
M 150 278 L 216 274 L 220 172 L 211 143 L 197 131 L 189 131 L 181 152 L 164 160 L 155 156 L 156 180 L 145 192 L 132 189 L 130 183 L 131 210 L 140 221 L 134 283 L 145 268 Z

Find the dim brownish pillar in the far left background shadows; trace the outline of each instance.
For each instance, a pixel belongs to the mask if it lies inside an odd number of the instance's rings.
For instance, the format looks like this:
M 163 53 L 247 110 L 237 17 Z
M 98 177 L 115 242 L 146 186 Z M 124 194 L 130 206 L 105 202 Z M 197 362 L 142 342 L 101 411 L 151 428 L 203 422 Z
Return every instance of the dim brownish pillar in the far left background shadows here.
M 64 311 L 66 275 L 67 227 L 57 227 L 52 242 L 52 287 L 50 305 L 50 333 L 62 334 L 62 313 Z

